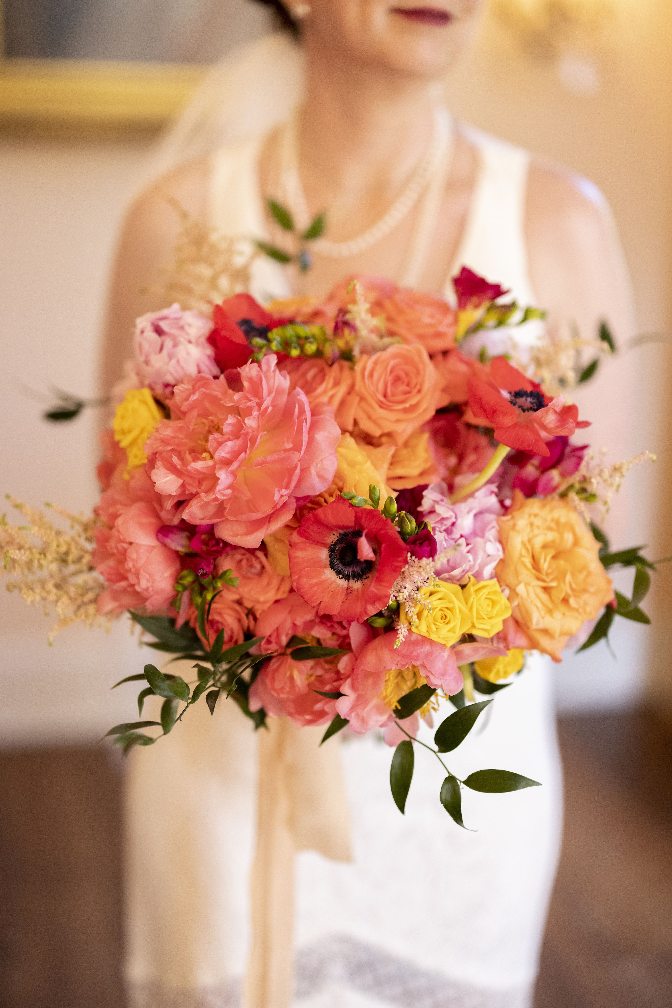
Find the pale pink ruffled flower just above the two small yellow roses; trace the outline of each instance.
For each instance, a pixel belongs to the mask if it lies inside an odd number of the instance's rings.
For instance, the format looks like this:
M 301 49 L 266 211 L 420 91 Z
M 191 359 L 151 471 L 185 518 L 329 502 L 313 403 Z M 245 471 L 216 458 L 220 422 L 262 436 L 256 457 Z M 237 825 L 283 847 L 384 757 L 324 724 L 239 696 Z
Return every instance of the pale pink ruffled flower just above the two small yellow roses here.
M 504 510 L 494 486 L 481 487 L 472 497 L 450 504 L 443 483 L 427 487 L 420 514 L 431 525 L 439 554 L 450 550 L 437 568 L 443 581 L 461 584 L 469 575 L 477 581 L 495 577 L 495 569 L 504 556 L 497 519 Z

